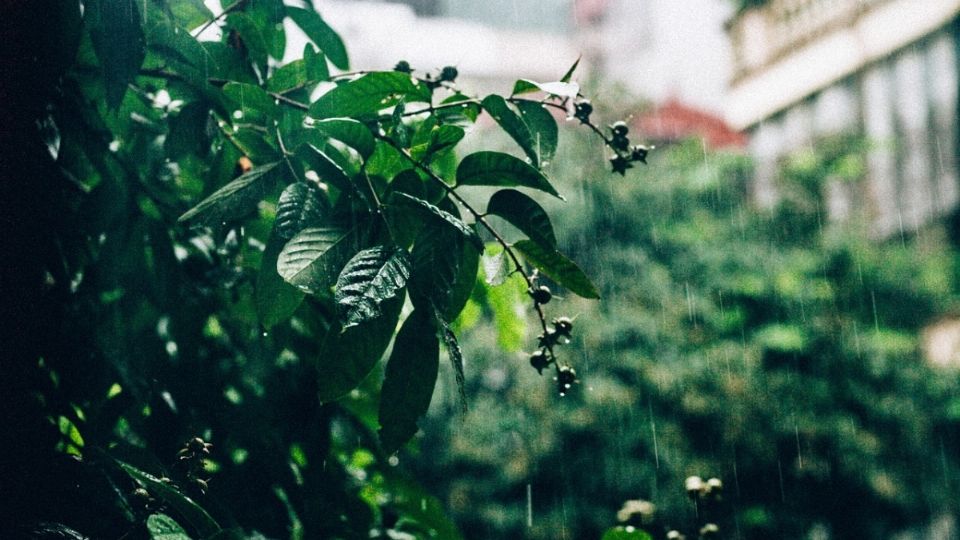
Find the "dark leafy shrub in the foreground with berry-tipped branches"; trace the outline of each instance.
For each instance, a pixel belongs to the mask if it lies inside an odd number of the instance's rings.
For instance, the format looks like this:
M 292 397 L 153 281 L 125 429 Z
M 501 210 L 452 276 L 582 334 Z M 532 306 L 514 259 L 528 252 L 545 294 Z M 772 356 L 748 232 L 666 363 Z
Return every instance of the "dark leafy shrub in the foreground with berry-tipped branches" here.
M 506 326 L 532 304 L 549 363 L 574 373 L 555 354 L 570 329 L 543 306 L 558 286 L 596 287 L 521 190 L 561 198 L 545 167 L 564 115 L 621 167 L 638 160 L 623 134 L 591 122 L 576 64 L 480 99 L 449 66 L 346 72 L 344 44 L 308 5 L 23 8 L 34 9 L 65 39 L 40 51 L 57 60 L 44 72 L 54 92 L 24 115 L 28 167 L 46 176 L 17 184 L 18 204 L 41 201 L 48 221 L 24 229 L 46 251 L 14 283 L 36 280 L 31 294 L 63 311 L 29 313 L 45 339 L 13 356 L 7 384 L 23 384 L 7 398 L 26 409 L 24 444 L 3 469 L 15 502 L 0 532 L 458 537 L 390 455 L 428 409 L 441 343 L 464 379 L 458 319 L 471 295 Z M 281 64 L 288 19 L 310 43 Z M 481 114 L 527 159 L 459 158 Z M 507 242 L 488 214 L 529 239 Z M 511 276 L 502 287 L 519 279 L 520 295 L 478 282 L 493 251 Z M 28 486 L 43 495 L 23 497 Z

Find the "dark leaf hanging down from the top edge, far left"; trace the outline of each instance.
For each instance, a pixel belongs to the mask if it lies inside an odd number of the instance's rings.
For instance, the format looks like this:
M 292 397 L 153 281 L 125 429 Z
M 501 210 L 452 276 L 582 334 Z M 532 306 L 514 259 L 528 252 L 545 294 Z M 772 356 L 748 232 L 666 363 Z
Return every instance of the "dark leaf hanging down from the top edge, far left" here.
M 107 105 L 112 108 L 123 101 L 127 85 L 137 76 L 146 56 L 143 19 L 137 4 L 135 0 L 84 3 L 84 18 L 103 71 Z

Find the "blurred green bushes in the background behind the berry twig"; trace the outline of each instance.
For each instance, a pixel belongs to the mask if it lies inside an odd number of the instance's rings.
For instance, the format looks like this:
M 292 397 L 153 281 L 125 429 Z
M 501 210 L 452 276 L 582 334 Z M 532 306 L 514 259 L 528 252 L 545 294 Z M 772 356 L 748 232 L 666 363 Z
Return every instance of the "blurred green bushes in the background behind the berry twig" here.
M 638 498 L 654 538 L 706 520 L 724 538 L 882 538 L 955 512 L 957 372 L 919 336 L 955 306 L 956 249 L 937 226 L 870 240 L 791 188 L 822 188 L 862 143 L 793 156 L 789 197 L 759 212 L 742 156 L 690 141 L 608 183 L 569 141 L 556 182 L 580 198 L 552 219 L 603 298 L 567 305 L 584 381 L 557 404 L 487 345 L 495 327 L 466 335 L 473 407 L 452 426 L 435 411 L 417 470 L 468 537 L 598 538 Z M 682 488 L 707 474 L 725 486 L 709 515 Z

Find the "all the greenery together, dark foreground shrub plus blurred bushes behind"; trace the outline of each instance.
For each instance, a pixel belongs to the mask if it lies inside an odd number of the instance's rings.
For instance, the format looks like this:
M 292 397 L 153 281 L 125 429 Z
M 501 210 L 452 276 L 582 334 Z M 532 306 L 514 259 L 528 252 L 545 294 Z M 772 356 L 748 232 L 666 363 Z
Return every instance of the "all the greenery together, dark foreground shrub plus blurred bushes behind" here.
M 794 156 L 757 213 L 742 156 L 629 170 L 646 148 L 572 73 L 480 99 L 452 68 L 338 75 L 306 6 L 82 6 L 0 8 L 0 536 L 875 538 L 958 512 L 956 372 L 918 346 L 956 251 L 821 218 L 863 145 Z M 287 18 L 312 43 L 281 66 Z

